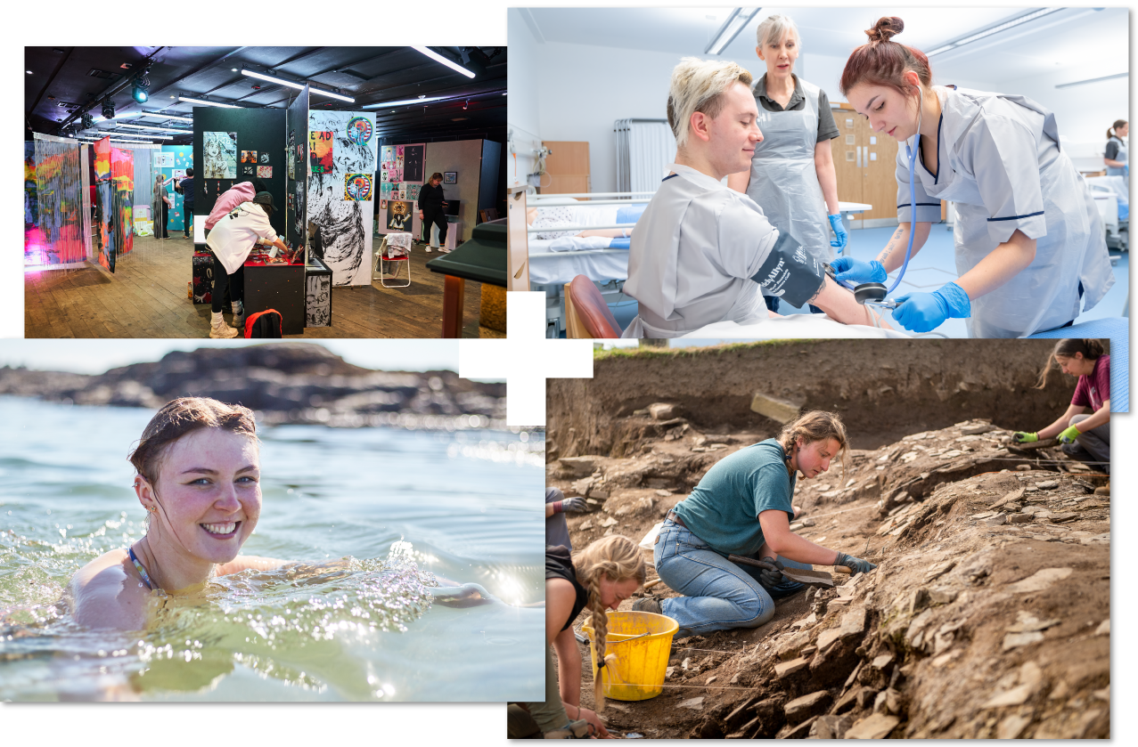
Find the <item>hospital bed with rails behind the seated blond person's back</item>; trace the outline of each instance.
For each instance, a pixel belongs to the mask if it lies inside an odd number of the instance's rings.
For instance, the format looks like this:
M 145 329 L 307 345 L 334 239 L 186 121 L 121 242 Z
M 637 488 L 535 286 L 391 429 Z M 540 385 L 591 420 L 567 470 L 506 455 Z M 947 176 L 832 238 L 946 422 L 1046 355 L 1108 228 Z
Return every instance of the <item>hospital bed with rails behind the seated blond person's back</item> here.
M 651 200 L 651 192 L 583 192 L 535 194 L 528 198 L 529 206 L 538 209 L 567 206 L 574 208 L 574 223 L 528 229 L 529 285 L 530 290 L 545 293 L 546 337 L 558 338 L 564 332 L 563 289 L 564 284 L 577 275 L 585 275 L 593 281 L 613 313 L 628 305 L 632 305 L 635 312 L 636 301 L 624 294 L 624 284 L 628 280 L 627 240 L 596 236 L 570 239 L 535 236 L 547 232 L 635 227 L 640 213 Z M 589 199 L 582 201 L 577 198 Z M 863 202 L 839 202 L 839 211 L 847 231 L 850 227 L 851 215 L 871 209 L 872 205 Z

